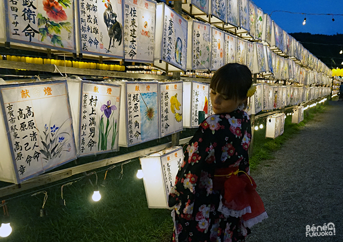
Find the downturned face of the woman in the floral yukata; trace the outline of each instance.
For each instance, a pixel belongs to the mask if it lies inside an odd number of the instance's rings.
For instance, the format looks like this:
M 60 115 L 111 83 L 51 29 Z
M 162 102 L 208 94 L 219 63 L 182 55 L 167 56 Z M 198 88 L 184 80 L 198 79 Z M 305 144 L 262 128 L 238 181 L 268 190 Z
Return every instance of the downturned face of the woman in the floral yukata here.
M 211 89 L 210 96 L 215 114 L 235 111 L 246 100 L 228 99 L 224 94 L 220 94 L 213 89 Z

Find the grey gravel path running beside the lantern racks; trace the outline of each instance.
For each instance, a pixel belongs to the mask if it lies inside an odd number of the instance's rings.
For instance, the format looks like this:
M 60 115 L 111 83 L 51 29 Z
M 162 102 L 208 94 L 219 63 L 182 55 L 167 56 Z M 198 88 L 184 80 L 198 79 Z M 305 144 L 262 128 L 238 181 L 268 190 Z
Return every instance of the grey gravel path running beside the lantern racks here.
M 330 101 L 273 156 L 252 172 L 269 217 L 246 241 L 343 241 L 343 102 Z M 334 235 L 306 237 L 306 225 L 330 222 Z

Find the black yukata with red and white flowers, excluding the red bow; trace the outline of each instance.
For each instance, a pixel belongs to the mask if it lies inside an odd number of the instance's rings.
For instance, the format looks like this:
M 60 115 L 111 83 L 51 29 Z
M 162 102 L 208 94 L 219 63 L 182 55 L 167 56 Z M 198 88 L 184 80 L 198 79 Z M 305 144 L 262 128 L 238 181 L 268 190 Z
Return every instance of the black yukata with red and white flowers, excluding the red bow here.
M 202 122 L 169 194 L 169 207 L 175 206 L 172 241 L 245 241 L 250 229 L 244 227 L 242 218 L 218 211 L 220 192 L 213 189 L 213 178 L 220 168 L 249 173 L 250 139 L 250 119 L 243 110 L 213 114 Z

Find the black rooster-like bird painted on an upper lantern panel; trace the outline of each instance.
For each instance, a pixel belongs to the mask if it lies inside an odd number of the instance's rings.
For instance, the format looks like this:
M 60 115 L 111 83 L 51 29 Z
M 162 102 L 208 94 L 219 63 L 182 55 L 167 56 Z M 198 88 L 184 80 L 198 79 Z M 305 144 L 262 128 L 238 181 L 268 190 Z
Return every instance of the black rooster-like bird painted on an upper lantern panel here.
M 118 45 L 122 44 L 122 25 L 117 21 L 117 14 L 113 11 L 111 2 L 109 0 L 103 0 L 103 3 L 105 3 L 106 10 L 103 13 L 103 21 L 105 22 L 105 25 L 107 27 L 107 34 L 109 37 L 109 45 L 108 49 L 106 49 L 107 53 L 111 52 L 110 47 L 111 43 L 113 43 L 112 47 L 115 47 L 115 41 L 119 42 Z M 113 42 L 112 42 L 113 41 Z

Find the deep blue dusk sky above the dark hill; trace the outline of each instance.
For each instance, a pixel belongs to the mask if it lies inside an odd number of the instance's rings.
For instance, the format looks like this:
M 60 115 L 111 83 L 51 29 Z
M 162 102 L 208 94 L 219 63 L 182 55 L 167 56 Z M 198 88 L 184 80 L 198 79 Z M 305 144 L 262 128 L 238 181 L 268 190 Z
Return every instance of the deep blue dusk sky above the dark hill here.
M 306 13 L 306 24 L 303 25 L 305 15 L 284 12 L 273 12 L 271 19 L 288 33 L 311 33 L 334 35 L 343 34 L 343 16 L 308 15 L 308 14 L 343 14 L 341 0 L 254 0 L 257 7 L 270 15 L 272 11 L 281 10 L 293 13 Z

